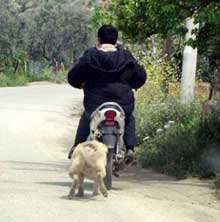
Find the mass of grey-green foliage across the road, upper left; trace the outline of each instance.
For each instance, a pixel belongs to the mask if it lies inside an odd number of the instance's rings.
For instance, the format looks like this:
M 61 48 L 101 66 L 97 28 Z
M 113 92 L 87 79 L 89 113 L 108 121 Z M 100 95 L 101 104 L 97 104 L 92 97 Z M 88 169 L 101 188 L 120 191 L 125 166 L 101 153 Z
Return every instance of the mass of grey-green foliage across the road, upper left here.
M 90 42 L 89 3 L 0 0 L 0 72 L 27 73 L 33 62 L 48 67 L 53 59 L 69 66 Z

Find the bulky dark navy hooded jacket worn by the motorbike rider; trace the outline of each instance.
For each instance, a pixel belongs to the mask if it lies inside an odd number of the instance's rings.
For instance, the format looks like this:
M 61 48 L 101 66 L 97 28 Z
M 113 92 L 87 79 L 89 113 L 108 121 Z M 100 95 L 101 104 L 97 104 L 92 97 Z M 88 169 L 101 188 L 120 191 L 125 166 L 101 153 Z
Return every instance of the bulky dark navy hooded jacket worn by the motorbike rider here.
M 132 54 L 118 47 L 115 52 L 88 49 L 68 74 L 68 82 L 84 90 L 84 106 L 89 113 L 104 102 L 117 102 L 126 113 L 134 109 L 132 89 L 146 81 L 145 70 Z

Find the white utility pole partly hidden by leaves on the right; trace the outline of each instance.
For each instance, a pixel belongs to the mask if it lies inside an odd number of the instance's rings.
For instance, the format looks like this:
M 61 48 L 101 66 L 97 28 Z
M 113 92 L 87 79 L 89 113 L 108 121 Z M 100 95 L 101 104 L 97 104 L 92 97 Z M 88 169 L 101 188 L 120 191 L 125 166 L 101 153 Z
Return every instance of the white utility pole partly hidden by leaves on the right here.
M 186 19 L 186 28 L 188 32 L 185 36 L 185 41 L 195 39 L 195 34 L 192 30 L 199 28 L 199 24 L 194 23 L 193 18 Z M 185 45 L 183 52 L 182 78 L 181 78 L 181 101 L 185 104 L 190 104 L 194 100 L 194 88 L 196 79 L 197 65 L 197 48 Z

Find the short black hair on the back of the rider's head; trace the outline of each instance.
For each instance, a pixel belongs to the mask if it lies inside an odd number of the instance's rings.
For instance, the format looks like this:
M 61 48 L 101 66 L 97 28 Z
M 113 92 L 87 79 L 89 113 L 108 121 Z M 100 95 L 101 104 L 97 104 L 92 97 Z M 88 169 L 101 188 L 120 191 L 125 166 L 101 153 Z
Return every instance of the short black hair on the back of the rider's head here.
M 118 30 L 112 25 L 103 25 L 98 30 L 98 39 L 100 44 L 115 45 L 118 39 Z

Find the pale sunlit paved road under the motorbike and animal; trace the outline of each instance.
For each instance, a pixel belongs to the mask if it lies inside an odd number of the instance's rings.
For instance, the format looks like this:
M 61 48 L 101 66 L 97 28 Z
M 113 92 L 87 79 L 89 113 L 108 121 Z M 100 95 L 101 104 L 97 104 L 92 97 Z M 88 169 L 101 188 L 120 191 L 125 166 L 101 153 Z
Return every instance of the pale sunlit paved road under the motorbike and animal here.
M 67 85 L 0 88 L 1 222 L 217 222 L 208 181 L 128 169 L 109 198 L 68 200 L 66 152 L 82 94 Z

